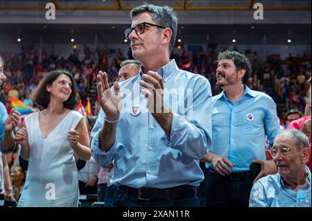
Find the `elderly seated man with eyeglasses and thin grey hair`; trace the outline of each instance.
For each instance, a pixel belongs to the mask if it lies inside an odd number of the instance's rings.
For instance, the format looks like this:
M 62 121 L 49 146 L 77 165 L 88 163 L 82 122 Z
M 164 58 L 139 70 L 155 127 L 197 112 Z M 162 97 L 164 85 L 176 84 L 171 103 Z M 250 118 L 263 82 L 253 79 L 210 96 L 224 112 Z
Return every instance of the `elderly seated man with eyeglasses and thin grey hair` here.
M 299 130 L 284 130 L 270 150 L 276 175 L 259 179 L 250 193 L 250 207 L 310 207 L 309 139 Z

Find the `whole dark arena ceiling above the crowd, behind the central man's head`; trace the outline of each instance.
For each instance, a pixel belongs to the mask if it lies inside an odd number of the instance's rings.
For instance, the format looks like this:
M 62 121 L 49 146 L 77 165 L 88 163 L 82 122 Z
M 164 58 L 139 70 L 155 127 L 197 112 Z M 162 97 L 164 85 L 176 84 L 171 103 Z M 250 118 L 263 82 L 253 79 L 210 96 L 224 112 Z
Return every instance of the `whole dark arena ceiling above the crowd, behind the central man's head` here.
M 64 44 L 123 44 L 123 30 L 130 26 L 129 10 L 141 0 L 58 0 L 56 19 L 47 21 L 47 0 L 0 0 L 2 42 Z M 184 44 L 311 44 L 311 0 L 148 0 L 168 5 L 179 17 L 177 39 Z M 261 2 L 264 19 L 252 18 L 252 6 Z

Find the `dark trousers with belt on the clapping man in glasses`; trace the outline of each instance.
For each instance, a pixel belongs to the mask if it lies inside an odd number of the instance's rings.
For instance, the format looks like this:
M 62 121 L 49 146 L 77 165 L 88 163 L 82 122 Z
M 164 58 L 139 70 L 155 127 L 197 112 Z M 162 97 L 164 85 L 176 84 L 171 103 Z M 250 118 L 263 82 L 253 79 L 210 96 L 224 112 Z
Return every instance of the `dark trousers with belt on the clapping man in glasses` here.
M 142 193 L 142 194 L 141 194 Z M 177 186 L 167 189 L 116 188 L 114 207 L 200 207 L 196 186 Z

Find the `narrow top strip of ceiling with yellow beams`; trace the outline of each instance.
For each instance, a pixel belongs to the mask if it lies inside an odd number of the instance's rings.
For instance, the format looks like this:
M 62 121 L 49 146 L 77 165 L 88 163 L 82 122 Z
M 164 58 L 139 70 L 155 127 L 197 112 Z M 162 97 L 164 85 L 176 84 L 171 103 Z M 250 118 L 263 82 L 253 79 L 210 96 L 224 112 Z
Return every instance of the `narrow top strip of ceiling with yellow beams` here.
M 46 0 L 1 0 L 0 10 L 45 10 Z M 311 0 L 52 0 L 59 10 L 131 10 L 144 2 L 168 5 L 175 10 L 252 10 L 255 2 L 264 10 L 311 10 Z

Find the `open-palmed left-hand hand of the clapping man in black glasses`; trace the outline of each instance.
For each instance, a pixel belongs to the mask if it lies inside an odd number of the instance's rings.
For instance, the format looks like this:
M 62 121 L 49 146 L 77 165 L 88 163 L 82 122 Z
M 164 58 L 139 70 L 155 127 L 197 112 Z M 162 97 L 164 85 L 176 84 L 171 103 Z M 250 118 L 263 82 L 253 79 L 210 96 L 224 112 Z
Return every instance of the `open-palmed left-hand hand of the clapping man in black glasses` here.
M 98 100 L 105 112 L 105 118 L 109 121 L 114 121 L 119 118 L 119 107 L 122 105 L 121 98 L 119 97 L 119 84 L 114 82 L 115 94 L 110 91 L 110 85 L 108 85 L 107 73 L 98 71 L 97 89 L 98 89 Z

